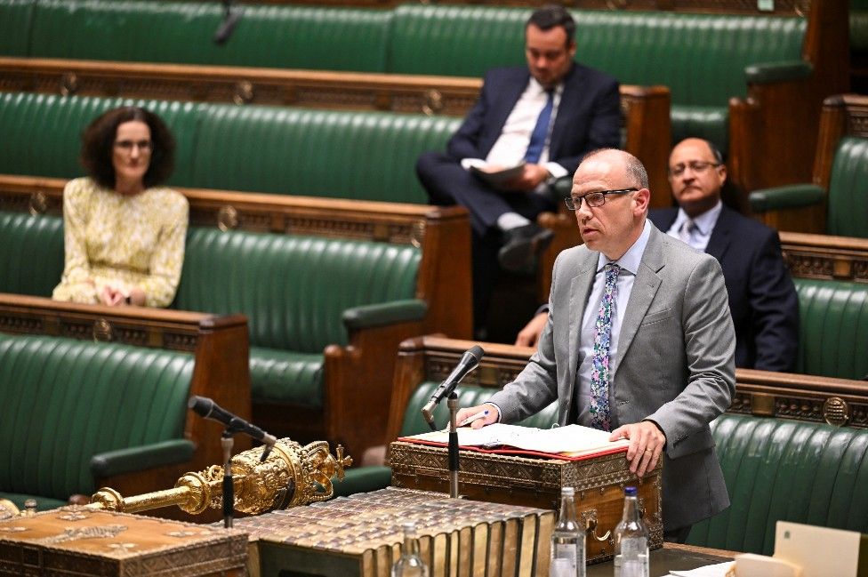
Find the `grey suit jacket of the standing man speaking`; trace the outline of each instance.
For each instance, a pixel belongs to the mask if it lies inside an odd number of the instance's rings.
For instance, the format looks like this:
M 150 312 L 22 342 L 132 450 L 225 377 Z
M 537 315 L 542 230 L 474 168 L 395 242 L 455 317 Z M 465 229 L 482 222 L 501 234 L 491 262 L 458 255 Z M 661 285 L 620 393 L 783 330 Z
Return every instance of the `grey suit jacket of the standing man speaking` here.
M 537 352 L 490 399 L 503 422 L 520 421 L 556 399 L 561 425 L 575 414 L 579 333 L 598 258 L 599 252 L 576 246 L 555 261 L 549 322 Z M 708 426 L 735 393 L 735 331 L 718 261 L 652 226 L 618 339 L 620 359 L 609 386 L 612 426 L 648 419 L 663 429 L 664 528 L 726 509 Z

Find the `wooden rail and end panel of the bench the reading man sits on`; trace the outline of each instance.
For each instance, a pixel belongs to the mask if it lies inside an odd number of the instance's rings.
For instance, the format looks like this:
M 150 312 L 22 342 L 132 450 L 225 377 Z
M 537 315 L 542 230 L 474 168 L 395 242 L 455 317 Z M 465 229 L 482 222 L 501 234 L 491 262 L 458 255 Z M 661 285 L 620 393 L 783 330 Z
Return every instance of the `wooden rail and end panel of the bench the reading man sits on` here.
M 101 60 L 0 58 L 0 91 L 62 96 L 235 102 L 464 116 L 481 78 L 327 72 Z M 653 186 L 666 187 L 671 127 L 669 89 L 621 86 L 624 149 L 647 166 Z M 662 206 L 671 204 L 663 198 Z

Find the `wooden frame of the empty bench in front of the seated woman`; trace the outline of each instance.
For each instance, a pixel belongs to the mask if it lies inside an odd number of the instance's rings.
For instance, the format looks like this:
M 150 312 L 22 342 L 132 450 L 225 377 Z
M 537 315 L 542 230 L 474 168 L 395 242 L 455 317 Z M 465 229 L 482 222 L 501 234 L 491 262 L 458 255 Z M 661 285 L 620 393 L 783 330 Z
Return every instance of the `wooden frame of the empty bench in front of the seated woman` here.
M 239 417 L 251 418 L 247 319 L 242 315 L 83 305 L 0 293 L 0 333 L 117 342 L 190 353 L 195 365 L 189 394 L 210 397 Z M 222 429 L 219 423 L 188 411 L 184 437 L 197 445 L 191 461 L 98 479 L 97 486 L 111 486 L 123 494 L 170 488 L 166 484 L 173 484 L 184 472 L 223 461 Z M 236 451 L 251 446 L 250 439 L 237 436 Z

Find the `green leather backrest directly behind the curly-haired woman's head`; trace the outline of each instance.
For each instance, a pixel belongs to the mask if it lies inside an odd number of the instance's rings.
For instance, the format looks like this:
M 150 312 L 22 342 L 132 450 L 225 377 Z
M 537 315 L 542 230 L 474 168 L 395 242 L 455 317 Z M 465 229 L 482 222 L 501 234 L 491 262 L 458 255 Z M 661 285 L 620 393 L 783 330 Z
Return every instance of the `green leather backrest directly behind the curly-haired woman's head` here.
M 71 178 L 79 134 L 101 112 L 147 107 L 173 130 L 169 184 L 427 204 L 415 159 L 457 118 L 305 108 L 0 93 L 0 173 Z

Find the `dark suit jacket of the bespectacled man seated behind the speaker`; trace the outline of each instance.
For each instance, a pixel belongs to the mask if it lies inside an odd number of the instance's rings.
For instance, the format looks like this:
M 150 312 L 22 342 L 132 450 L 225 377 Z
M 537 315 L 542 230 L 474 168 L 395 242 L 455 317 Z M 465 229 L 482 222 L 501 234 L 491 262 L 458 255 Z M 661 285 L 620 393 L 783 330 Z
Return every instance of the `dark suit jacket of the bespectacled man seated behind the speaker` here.
M 677 208 L 649 212 L 663 232 Z M 705 252 L 719 260 L 735 325 L 735 366 L 792 371 L 799 348 L 799 298 L 776 230 L 723 207 Z

